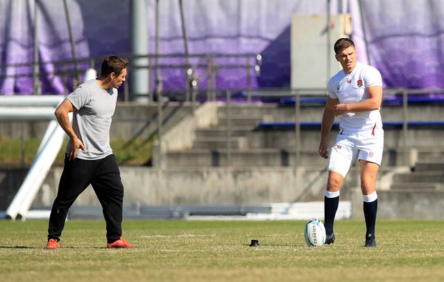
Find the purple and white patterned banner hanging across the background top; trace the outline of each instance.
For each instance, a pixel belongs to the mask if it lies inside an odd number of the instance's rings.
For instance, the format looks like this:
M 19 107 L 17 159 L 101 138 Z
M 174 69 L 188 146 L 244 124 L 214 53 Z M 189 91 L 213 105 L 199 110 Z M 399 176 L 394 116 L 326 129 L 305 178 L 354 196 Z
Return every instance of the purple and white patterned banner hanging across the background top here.
M 73 58 L 63 2 L 40 0 L 35 7 L 35 1 L 0 1 L 0 94 L 33 93 L 35 8 L 42 93 L 71 91 L 76 66 L 60 63 Z M 181 64 L 184 58 L 164 57 L 185 53 L 179 1 L 159 2 L 161 64 Z M 148 54 L 154 55 L 156 1 L 145 3 Z M 183 1 L 189 53 L 232 55 L 216 56 L 219 68 L 214 76 L 210 75 L 206 59 L 191 58 L 199 88 L 214 84 L 219 89 L 289 87 L 291 15 L 326 14 L 327 3 L 327 0 Z M 130 53 L 130 0 L 67 0 L 67 6 L 79 60 Z M 352 39 L 357 44 L 358 59 L 380 70 L 386 88 L 444 88 L 443 1 L 331 0 L 330 13 L 352 15 Z M 260 76 L 255 76 L 253 69 L 255 54 L 262 55 Z M 250 69 L 246 67 L 248 57 Z M 88 66 L 88 60 L 82 61 L 80 71 L 84 72 Z M 309 67 L 318 66 L 307 66 L 307 71 Z M 161 74 L 165 90 L 185 88 L 183 67 L 164 67 Z M 151 79 L 154 82 L 155 78 Z M 155 83 L 152 85 L 155 88 Z

